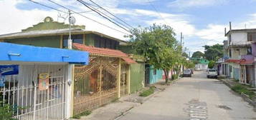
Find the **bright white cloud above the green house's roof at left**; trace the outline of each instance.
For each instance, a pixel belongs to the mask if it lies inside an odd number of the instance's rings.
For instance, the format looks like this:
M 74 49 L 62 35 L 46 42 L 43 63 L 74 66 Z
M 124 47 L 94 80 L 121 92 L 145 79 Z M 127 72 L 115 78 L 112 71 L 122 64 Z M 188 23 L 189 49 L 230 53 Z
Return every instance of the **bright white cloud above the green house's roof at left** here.
M 32 26 L 34 24 L 38 24 L 42 22 L 46 16 L 51 16 L 55 21 L 57 21 L 57 11 L 51 10 L 46 11 L 42 9 L 32 9 L 32 10 L 21 10 L 16 8 L 16 4 L 19 4 L 21 1 L 14 0 L 3 0 L 0 1 L 0 11 L 5 11 L 1 15 L 0 23 L 0 34 L 9 34 L 13 32 L 19 32 L 22 29 L 27 29 L 27 27 Z M 49 4 L 49 3 L 48 3 Z M 100 21 L 100 23 L 104 23 L 105 25 L 112 26 L 115 29 L 128 33 L 123 29 L 118 28 L 118 26 L 113 25 L 109 21 L 103 19 L 102 17 L 95 16 L 95 14 L 86 13 L 85 16 L 95 19 L 96 21 Z M 123 36 L 125 34 L 121 34 L 118 31 L 113 29 L 109 29 L 108 27 L 97 24 L 93 21 L 85 19 L 82 16 L 75 15 L 77 19 L 76 24 L 85 25 L 85 29 L 99 31 L 103 34 L 108 34 L 110 36 L 114 36 L 118 39 L 125 39 Z

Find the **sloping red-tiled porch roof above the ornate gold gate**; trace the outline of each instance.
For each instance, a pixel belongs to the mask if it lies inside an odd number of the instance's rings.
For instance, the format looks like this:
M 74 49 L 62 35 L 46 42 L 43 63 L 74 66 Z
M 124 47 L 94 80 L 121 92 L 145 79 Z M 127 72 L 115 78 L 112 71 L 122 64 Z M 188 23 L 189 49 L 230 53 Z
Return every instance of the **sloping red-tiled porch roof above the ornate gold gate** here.
M 116 50 L 116 49 L 103 49 L 98 48 L 94 46 L 85 46 L 84 44 L 72 44 L 74 49 L 87 51 L 90 54 L 99 55 L 99 56 L 112 56 L 112 57 L 118 57 L 123 59 L 128 64 L 136 63 L 136 61 L 133 61 L 127 54 L 123 53 L 122 51 Z

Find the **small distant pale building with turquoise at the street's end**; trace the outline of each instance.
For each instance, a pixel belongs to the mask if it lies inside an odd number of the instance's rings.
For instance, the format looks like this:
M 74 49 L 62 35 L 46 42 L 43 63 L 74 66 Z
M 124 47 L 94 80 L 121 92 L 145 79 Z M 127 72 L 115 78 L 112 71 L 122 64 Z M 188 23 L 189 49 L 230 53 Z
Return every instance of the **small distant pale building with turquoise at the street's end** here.
M 204 58 L 190 58 L 191 61 L 194 61 L 196 63 L 195 70 L 196 71 L 202 71 L 208 69 L 209 61 Z

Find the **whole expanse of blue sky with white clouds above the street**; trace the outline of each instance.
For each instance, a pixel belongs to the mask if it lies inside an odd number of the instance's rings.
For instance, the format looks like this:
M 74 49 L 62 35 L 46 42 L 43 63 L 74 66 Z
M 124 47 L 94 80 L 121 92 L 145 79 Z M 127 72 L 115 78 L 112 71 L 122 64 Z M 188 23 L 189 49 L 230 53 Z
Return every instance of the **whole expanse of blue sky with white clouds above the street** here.
M 54 8 L 60 8 L 49 1 L 34 0 Z M 75 11 L 88 11 L 85 6 L 75 0 L 53 0 L 59 4 L 74 9 Z M 89 0 L 85 0 L 90 2 Z M 203 45 L 222 44 L 224 27 L 232 21 L 232 28 L 256 28 L 256 0 L 94 0 L 105 9 L 125 20 L 132 26 L 150 26 L 168 24 L 176 31 L 179 39 L 180 32 L 184 33 L 184 46 L 191 52 L 204 51 Z M 158 12 L 153 8 L 155 7 Z M 58 19 L 58 12 L 39 6 L 27 0 L 0 0 L 0 9 L 6 11 L 0 20 L 1 26 L 12 24 L 0 29 L 0 34 L 20 31 L 33 24 L 37 24 L 46 16 L 52 16 L 55 21 L 66 22 Z M 161 15 L 159 15 L 161 14 Z M 59 14 L 60 15 L 60 14 Z M 61 14 L 65 16 L 65 14 Z M 93 12 L 84 14 L 101 23 L 118 28 L 109 21 Z M 122 33 L 100 26 L 93 21 L 75 15 L 77 24 L 84 24 L 86 29 L 100 31 L 104 34 L 124 39 Z M 5 19 L 11 19 L 5 21 Z M 125 32 L 125 31 L 124 31 Z

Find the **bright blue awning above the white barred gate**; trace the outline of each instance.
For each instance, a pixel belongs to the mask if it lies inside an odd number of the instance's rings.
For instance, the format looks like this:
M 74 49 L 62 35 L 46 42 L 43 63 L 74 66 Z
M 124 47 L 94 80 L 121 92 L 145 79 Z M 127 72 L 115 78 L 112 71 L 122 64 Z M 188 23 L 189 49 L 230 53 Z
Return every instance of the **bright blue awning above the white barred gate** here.
M 0 61 L 89 64 L 87 51 L 55 49 L 0 42 Z

